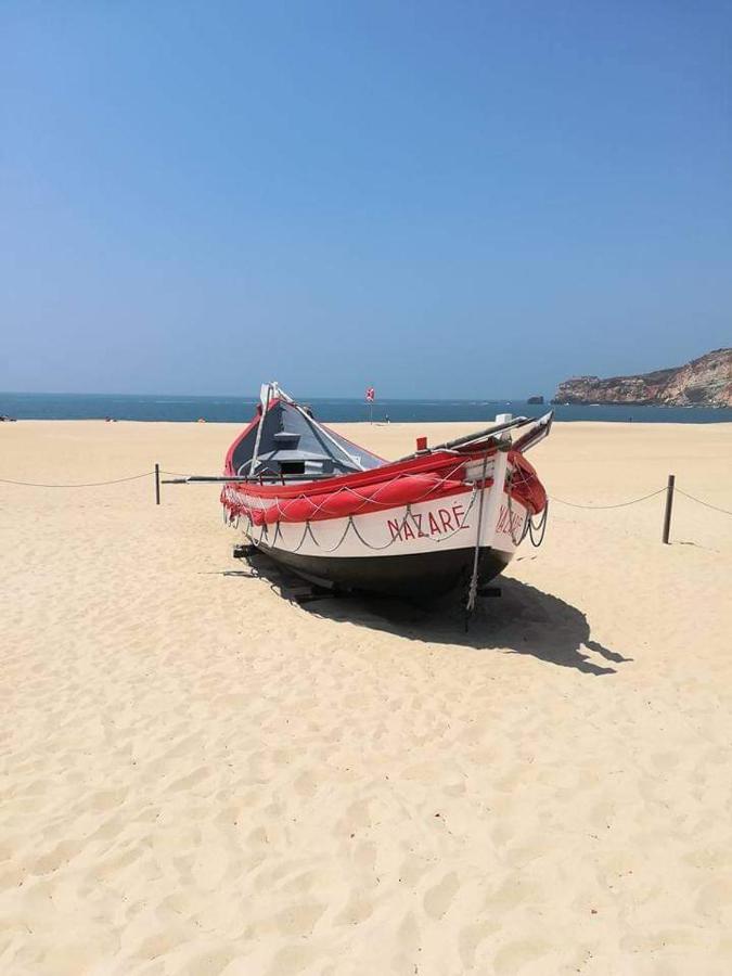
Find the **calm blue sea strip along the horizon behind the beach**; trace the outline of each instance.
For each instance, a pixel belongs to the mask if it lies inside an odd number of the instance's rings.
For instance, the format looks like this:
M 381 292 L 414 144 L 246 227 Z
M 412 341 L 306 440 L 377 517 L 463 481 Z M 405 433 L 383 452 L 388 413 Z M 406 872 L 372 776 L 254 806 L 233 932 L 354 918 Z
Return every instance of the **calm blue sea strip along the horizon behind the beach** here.
M 325 422 L 365 421 L 363 400 L 301 398 L 317 418 Z M 90 420 L 111 416 L 130 421 L 248 421 L 255 397 L 164 397 L 110 394 L 11 394 L 0 393 L 0 414 L 18 420 Z M 491 421 L 497 413 L 539 416 L 549 407 L 528 406 L 525 400 L 377 400 L 374 421 Z M 705 407 L 556 407 L 560 421 L 618 421 L 639 423 L 732 422 L 732 408 Z

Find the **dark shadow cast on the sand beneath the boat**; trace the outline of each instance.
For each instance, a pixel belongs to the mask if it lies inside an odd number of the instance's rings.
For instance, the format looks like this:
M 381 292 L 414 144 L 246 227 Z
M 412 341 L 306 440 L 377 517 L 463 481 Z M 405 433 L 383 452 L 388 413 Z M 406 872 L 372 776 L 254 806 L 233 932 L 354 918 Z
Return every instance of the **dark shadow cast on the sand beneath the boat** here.
M 282 587 L 282 574 L 271 561 L 258 557 L 253 568 L 273 587 Z M 529 654 L 587 675 L 615 675 L 613 665 L 632 660 L 592 640 L 587 616 L 576 606 L 517 579 L 501 577 L 497 585 L 501 595 L 478 600 L 467 631 L 455 593 L 429 605 L 356 594 L 326 595 L 300 605 L 318 617 L 359 624 L 406 640 Z M 607 664 L 593 662 L 590 654 Z

